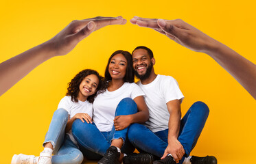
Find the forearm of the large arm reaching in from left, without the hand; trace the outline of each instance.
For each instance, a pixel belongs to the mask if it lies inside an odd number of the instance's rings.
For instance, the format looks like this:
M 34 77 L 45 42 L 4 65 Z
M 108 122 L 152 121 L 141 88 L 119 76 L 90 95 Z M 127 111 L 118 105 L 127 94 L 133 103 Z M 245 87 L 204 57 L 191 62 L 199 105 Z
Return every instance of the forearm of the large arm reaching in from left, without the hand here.
M 54 56 L 50 43 L 45 42 L 0 64 L 0 96 L 25 77 L 36 66 Z

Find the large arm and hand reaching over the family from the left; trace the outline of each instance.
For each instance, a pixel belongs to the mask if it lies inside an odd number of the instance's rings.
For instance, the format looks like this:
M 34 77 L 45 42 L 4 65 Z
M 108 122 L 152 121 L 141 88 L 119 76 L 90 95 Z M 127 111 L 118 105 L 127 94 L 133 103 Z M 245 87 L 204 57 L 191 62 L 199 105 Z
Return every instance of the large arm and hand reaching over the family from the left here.
M 89 36 L 93 31 L 106 25 L 124 24 L 126 24 L 126 20 L 121 16 L 73 20 L 51 40 L 0 64 L 0 96 L 47 59 L 69 53 L 78 42 Z

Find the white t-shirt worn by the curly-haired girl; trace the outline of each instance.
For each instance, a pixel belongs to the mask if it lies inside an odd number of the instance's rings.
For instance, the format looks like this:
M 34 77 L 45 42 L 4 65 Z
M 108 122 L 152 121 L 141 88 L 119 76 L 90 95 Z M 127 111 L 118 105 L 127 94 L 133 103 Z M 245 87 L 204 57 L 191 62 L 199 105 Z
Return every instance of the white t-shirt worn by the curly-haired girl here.
M 73 102 L 71 100 L 71 96 L 65 96 L 64 98 L 62 98 L 60 100 L 60 103 L 58 104 L 58 109 L 65 109 L 69 115 L 70 115 L 70 119 L 73 118 L 73 116 L 76 113 L 87 113 L 89 114 L 91 117 L 93 115 L 93 104 L 90 103 L 88 100 L 82 102 L 80 100 L 78 100 L 78 102 Z M 77 142 L 75 141 L 71 130 L 67 133 L 70 137 L 70 139 L 73 141 L 73 143 L 77 144 Z

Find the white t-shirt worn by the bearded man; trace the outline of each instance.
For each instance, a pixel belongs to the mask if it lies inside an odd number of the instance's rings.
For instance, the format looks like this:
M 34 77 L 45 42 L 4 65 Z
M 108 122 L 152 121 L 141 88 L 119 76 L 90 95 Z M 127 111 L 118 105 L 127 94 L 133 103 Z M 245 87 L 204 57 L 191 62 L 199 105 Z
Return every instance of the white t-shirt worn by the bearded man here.
M 184 96 L 178 87 L 177 81 L 170 76 L 158 74 L 149 84 L 137 84 L 145 93 L 145 102 L 148 105 L 150 119 L 145 123 L 152 132 L 163 131 L 168 128 L 170 113 L 166 103 L 170 100 L 183 100 Z

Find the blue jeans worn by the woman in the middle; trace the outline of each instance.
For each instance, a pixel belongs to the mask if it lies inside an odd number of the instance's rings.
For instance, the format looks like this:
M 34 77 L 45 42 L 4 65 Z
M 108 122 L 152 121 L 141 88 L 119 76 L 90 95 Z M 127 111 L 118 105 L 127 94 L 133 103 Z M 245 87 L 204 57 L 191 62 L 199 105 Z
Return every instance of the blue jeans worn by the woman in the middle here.
M 124 98 L 117 105 L 115 116 L 130 115 L 134 113 L 137 113 L 137 105 L 135 101 L 131 98 Z M 115 126 L 113 125 L 111 131 L 101 132 L 94 123 L 88 124 L 81 120 L 75 120 L 72 125 L 73 137 L 78 141 L 80 148 L 82 147 L 81 149 L 94 152 L 94 155 L 100 154 L 100 156 L 104 156 L 113 139 L 119 138 L 124 141 L 124 146 L 121 148 L 122 152 L 133 152 L 134 147 L 131 144 L 129 145 L 127 142 L 128 139 L 126 139 L 127 131 L 128 128 L 121 131 L 115 131 Z M 84 154 L 86 159 L 91 159 L 92 156 L 87 156 L 86 153 Z

